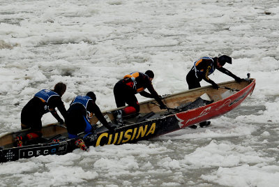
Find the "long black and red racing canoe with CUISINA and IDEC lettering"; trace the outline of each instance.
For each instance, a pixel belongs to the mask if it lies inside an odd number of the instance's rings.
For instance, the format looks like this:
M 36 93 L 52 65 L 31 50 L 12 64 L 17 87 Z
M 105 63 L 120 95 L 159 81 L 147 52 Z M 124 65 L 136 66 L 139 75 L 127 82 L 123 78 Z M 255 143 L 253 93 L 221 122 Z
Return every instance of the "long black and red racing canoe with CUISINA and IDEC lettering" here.
M 181 112 L 167 112 L 163 115 L 159 112 L 158 117 L 146 119 L 145 121 L 142 121 L 140 123 L 132 123 L 127 126 L 116 128 L 114 133 L 111 133 L 105 127 L 101 127 L 96 130 L 96 133 L 87 135 L 86 137 L 82 138 L 87 145 L 94 147 L 103 146 L 105 144 L 134 143 L 140 140 L 149 140 L 153 137 L 164 135 L 174 130 L 192 126 L 193 124 L 198 124 L 202 121 L 206 121 L 214 117 L 223 115 L 240 105 L 240 103 L 245 100 L 255 88 L 255 79 L 246 80 L 246 82 L 243 82 L 243 84 L 245 85 L 242 85 L 242 87 L 240 84 L 236 84 L 234 82 L 224 84 L 239 87 L 237 89 L 240 89 L 240 91 L 231 93 L 225 98 L 221 98 L 221 94 L 217 94 L 218 91 L 213 90 L 211 87 L 199 88 L 193 91 L 186 91 L 185 93 L 176 93 L 174 95 L 168 96 L 168 98 L 165 98 L 164 102 L 168 105 L 174 103 L 177 104 L 178 102 L 185 103 L 185 101 L 190 98 L 190 96 L 193 96 L 193 93 L 198 92 L 197 96 L 201 96 L 199 94 L 206 91 L 212 92 L 211 97 L 213 98 L 216 96 L 218 97 L 218 99 L 214 98 L 216 102 L 213 102 L 211 104 L 202 105 L 193 109 L 182 110 Z M 174 100 L 173 103 L 170 102 L 172 100 Z M 183 102 L 181 100 L 183 100 Z M 149 104 L 149 102 L 143 103 L 141 107 L 141 111 L 149 110 L 150 112 L 156 110 L 156 108 L 153 107 L 153 105 Z M 104 114 L 110 114 L 110 112 L 104 112 Z M 47 137 L 47 135 L 50 136 L 56 134 L 65 135 L 66 132 L 67 131 L 65 127 L 56 124 L 50 124 L 45 127 L 45 137 Z M 16 133 L 8 133 L 7 135 L 3 135 L 2 137 L 0 137 L 0 142 L 2 143 L 0 144 L 0 146 L 3 147 L 2 149 L 0 149 L 1 163 L 18 160 L 20 158 L 31 158 L 33 156 L 67 154 L 76 149 L 76 139 L 69 140 L 67 138 L 63 138 L 63 140 L 61 140 L 60 142 L 32 144 L 24 147 L 10 148 L 8 147 L 8 143 L 13 140 L 15 134 Z

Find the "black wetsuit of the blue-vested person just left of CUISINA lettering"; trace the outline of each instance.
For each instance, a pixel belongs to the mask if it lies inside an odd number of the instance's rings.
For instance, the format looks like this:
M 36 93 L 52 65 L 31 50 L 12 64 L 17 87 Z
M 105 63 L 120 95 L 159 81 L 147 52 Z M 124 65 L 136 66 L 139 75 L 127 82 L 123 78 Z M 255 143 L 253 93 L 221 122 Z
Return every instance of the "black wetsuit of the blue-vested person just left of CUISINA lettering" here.
M 90 123 L 89 119 L 87 118 L 87 112 L 89 112 L 91 116 L 95 114 L 95 116 L 103 124 L 103 126 L 108 128 L 109 130 L 113 130 L 113 128 L 105 120 L 105 117 L 103 117 L 103 114 L 102 112 L 100 112 L 100 108 L 98 107 L 98 105 L 96 105 L 93 100 L 89 99 L 86 108 L 81 103 L 70 104 L 65 120 L 65 124 L 67 126 L 69 134 L 77 135 L 78 133 L 86 131 L 86 129 L 91 131 L 91 129 L 88 128 Z

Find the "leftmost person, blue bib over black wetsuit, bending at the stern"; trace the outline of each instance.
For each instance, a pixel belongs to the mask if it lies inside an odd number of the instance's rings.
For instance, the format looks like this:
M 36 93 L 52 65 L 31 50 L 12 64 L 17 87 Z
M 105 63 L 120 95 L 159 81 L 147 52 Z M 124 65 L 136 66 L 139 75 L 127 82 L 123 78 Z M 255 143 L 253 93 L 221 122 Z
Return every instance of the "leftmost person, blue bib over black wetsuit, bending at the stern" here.
M 66 108 L 64 107 L 61 96 L 66 91 L 66 84 L 59 82 L 55 84 L 54 89 L 43 89 L 38 91 L 35 96 L 29 100 L 27 105 L 22 109 L 21 126 L 22 129 L 29 129 L 27 133 L 18 135 L 15 139 L 17 147 L 22 147 L 22 144 L 27 140 L 37 140 L 42 136 L 42 121 L 43 114 L 51 112 L 60 124 L 64 121 L 59 117 L 55 108 L 57 107 L 63 118 L 66 118 Z

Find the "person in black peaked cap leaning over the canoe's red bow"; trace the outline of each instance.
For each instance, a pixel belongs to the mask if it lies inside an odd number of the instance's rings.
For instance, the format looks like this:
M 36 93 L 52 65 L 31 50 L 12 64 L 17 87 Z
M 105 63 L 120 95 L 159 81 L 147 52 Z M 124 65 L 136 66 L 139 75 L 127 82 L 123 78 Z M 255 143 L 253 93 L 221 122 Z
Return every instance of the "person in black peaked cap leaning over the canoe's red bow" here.
M 227 55 L 222 55 L 220 57 L 202 57 L 201 59 L 198 59 L 195 61 L 193 68 L 189 71 L 189 73 L 186 76 L 186 81 L 188 83 L 189 89 L 195 89 L 201 87 L 199 82 L 202 80 L 205 80 L 206 82 L 209 82 L 212 84 L 212 87 L 214 89 L 218 89 L 218 85 L 213 82 L 213 80 L 209 79 L 209 75 L 213 73 L 216 69 L 220 70 L 220 72 L 225 73 L 229 75 L 230 77 L 233 77 L 236 82 L 241 82 L 241 78 L 237 77 L 233 73 L 231 73 L 229 70 L 223 68 L 225 63 L 231 63 L 232 64 L 232 58 Z M 200 127 L 209 126 L 210 121 L 204 121 L 199 124 Z M 190 126 L 190 128 L 197 128 L 197 126 L 193 125 Z

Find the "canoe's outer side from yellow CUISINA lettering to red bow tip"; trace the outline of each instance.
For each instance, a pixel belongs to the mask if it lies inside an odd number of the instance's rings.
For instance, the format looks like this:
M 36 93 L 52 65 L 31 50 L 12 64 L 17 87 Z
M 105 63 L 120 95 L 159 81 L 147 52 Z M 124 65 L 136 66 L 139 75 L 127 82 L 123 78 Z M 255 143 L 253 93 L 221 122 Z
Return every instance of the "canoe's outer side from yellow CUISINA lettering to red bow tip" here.
M 254 88 L 255 82 L 252 82 L 248 87 L 218 102 L 193 110 L 187 110 L 186 112 L 179 112 L 159 119 L 119 128 L 116 133 L 101 133 L 96 140 L 88 142 L 88 144 L 96 147 L 105 144 L 133 143 L 139 140 L 149 140 L 152 137 L 198 124 L 233 110 L 252 93 Z

